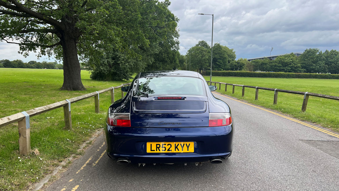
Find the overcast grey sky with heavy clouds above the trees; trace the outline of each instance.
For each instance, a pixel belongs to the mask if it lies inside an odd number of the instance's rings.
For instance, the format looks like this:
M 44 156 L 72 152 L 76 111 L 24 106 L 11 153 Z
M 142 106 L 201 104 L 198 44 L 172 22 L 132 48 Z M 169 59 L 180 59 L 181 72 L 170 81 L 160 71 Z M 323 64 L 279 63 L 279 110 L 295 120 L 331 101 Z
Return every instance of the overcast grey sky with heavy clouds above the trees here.
M 339 1 L 171 0 L 169 9 L 180 19 L 180 53 L 199 40 L 233 48 L 238 58 L 253 58 L 307 48 L 339 50 Z M 18 54 L 17 45 L 0 42 L 1 59 L 37 60 Z M 43 58 L 40 61 L 44 60 Z M 53 58 L 51 60 L 54 60 Z

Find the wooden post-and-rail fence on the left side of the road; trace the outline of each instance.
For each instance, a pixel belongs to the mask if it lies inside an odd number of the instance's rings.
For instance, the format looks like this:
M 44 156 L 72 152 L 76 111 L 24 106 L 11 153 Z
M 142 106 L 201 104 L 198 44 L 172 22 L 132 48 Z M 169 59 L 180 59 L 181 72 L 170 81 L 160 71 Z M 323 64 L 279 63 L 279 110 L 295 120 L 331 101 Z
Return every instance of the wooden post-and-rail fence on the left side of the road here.
M 37 107 L 34 109 L 30 109 L 28 111 L 22 111 L 17 114 L 13 114 L 11 116 L 0 118 L 0 127 L 18 122 L 18 130 L 19 130 L 19 153 L 22 155 L 27 155 L 31 150 L 31 134 L 30 134 L 30 126 L 29 126 L 29 118 L 42 114 L 44 112 L 63 107 L 64 111 L 64 121 L 65 121 L 65 129 L 72 129 L 72 118 L 71 118 L 71 103 L 75 103 L 87 98 L 94 97 L 94 108 L 95 112 L 99 113 L 99 94 L 104 93 L 106 91 L 111 91 L 111 103 L 114 103 L 114 89 L 121 88 L 123 86 L 131 85 L 131 83 L 121 84 L 120 86 L 109 87 L 100 91 L 87 93 L 84 95 L 79 95 L 78 97 L 66 99 L 60 102 L 48 104 L 45 106 Z M 124 97 L 123 91 L 121 91 L 121 98 Z

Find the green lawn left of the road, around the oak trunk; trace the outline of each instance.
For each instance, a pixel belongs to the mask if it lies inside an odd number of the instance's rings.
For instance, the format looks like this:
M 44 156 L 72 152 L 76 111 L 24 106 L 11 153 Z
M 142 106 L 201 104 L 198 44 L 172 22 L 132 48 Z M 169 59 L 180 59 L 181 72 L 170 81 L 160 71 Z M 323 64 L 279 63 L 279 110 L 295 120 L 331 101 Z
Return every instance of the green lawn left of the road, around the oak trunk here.
M 91 80 L 84 70 L 81 77 L 86 91 L 60 91 L 63 70 L 0 68 L 0 118 L 126 83 Z M 116 91 L 116 100 L 120 97 Z M 0 190 L 26 190 L 60 161 L 77 154 L 79 145 L 102 129 L 110 104 L 110 92 L 100 94 L 99 114 L 94 112 L 94 98 L 73 103 L 73 131 L 63 130 L 62 107 L 31 117 L 31 147 L 39 155 L 19 155 L 18 123 L 0 127 Z

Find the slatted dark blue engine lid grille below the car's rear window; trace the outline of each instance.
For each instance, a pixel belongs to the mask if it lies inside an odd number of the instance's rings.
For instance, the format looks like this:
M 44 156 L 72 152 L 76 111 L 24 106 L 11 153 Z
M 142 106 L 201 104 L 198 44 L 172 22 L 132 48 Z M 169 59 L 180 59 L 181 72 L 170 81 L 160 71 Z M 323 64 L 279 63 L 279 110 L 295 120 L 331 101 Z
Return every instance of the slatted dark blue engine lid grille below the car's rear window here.
M 187 100 L 137 101 L 133 103 L 133 110 L 140 113 L 203 113 L 206 111 L 206 102 Z

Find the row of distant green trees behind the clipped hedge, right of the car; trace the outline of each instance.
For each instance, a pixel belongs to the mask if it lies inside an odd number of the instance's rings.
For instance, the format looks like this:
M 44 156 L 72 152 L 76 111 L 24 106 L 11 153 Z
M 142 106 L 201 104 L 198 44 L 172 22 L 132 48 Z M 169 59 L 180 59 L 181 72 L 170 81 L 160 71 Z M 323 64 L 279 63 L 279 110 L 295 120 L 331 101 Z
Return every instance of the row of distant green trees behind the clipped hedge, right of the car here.
M 191 53 L 191 70 L 210 70 L 211 47 L 205 41 L 187 51 L 185 57 L 189 63 Z M 294 73 L 339 73 L 339 51 L 320 51 L 317 48 L 306 49 L 300 56 L 293 53 L 278 56 L 275 60 L 268 58 L 252 60 L 246 58 L 235 60 L 233 49 L 215 43 L 213 46 L 212 70 L 214 71 L 263 71 Z M 182 67 L 183 68 L 183 67 Z M 188 69 L 188 67 L 187 67 Z

